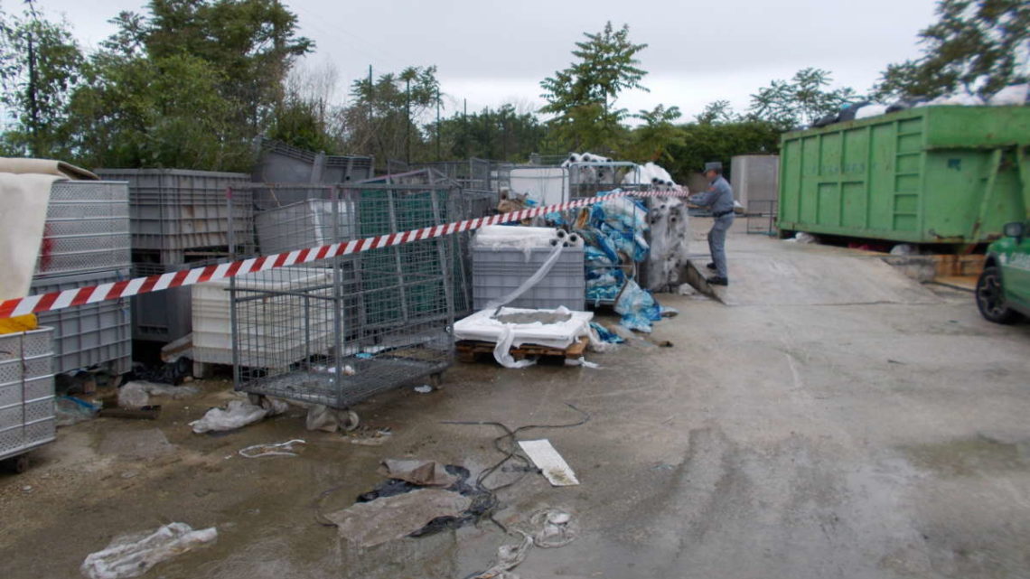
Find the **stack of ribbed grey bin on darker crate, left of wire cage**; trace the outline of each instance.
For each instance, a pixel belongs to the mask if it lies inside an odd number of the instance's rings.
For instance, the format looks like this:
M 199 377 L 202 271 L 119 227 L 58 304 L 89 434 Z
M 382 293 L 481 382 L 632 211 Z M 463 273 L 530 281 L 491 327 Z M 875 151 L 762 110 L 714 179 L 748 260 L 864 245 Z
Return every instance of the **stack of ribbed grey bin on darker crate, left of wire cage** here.
M 107 179 L 129 183 L 132 262 L 135 276 L 158 275 L 224 260 L 229 245 L 253 244 L 250 178 L 242 173 L 181 169 L 101 169 Z M 230 213 L 232 230 L 230 231 Z M 132 299 L 132 337 L 171 342 L 192 331 L 190 290 Z

